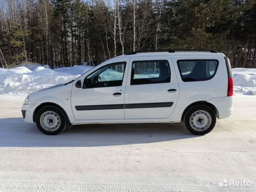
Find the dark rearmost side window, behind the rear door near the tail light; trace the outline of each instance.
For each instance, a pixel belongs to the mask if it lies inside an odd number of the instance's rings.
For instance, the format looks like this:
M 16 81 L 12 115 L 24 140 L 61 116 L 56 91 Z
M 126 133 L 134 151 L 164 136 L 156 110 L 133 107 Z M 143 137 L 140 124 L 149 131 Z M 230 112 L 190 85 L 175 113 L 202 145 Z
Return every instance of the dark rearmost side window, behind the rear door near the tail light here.
M 206 81 L 215 75 L 219 61 L 215 59 L 178 60 L 182 81 Z

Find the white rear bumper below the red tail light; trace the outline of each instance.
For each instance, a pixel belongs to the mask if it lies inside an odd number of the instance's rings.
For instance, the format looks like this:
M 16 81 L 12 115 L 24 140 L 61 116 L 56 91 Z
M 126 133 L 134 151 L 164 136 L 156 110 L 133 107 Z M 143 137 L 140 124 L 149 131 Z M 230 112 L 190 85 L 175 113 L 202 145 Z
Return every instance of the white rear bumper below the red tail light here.
M 217 111 L 218 111 L 217 117 L 219 119 L 224 119 L 224 118 L 228 118 L 233 111 L 234 96 L 215 97 L 207 102 L 212 103 L 217 108 Z

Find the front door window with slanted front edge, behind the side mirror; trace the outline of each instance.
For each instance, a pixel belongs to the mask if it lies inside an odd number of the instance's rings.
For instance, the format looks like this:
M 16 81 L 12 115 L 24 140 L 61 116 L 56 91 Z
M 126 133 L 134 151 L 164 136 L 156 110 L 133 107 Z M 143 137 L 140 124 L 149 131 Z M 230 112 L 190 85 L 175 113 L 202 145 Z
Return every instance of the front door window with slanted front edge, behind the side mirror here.
M 126 62 L 105 65 L 85 78 L 83 88 L 122 86 L 125 67 Z

